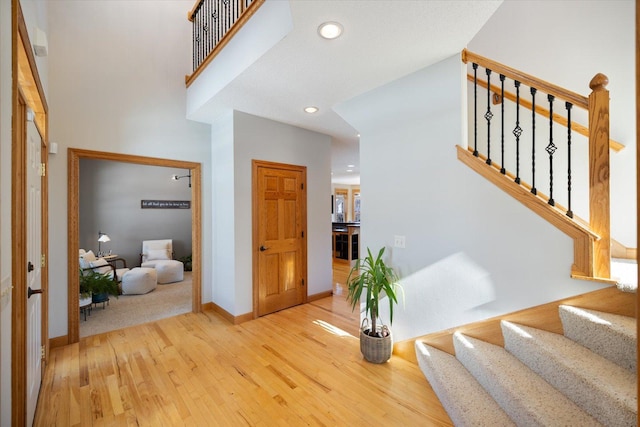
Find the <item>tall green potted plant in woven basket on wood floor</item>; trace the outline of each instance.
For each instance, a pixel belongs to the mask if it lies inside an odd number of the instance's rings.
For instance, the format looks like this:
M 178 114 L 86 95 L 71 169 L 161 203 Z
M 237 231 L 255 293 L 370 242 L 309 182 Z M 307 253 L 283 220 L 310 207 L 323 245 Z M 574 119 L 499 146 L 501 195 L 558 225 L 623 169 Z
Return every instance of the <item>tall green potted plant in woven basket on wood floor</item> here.
M 366 360 L 384 363 L 391 358 L 393 341 L 391 331 L 384 324 L 378 324 L 380 300 L 389 300 L 389 324 L 393 323 L 393 306 L 398 303 L 397 291 L 402 288 L 393 268 L 382 259 L 383 247 L 374 258 L 367 248 L 367 256 L 359 259 L 347 278 L 347 301 L 353 310 L 360 306 L 364 296 L 365 317 L 360 328 L 360 351 Z M 368 325 L 369 320 L 371 325 Z

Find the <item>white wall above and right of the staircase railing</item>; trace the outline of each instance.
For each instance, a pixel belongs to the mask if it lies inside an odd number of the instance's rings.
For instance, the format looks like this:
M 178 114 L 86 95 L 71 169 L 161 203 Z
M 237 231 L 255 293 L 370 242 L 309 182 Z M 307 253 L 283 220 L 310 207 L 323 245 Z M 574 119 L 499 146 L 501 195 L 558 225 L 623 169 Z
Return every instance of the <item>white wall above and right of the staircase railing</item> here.
M 626 145 L 611 151 L 611 235 L 637 247 L 635 2 L 508 0 L 468 47 L 585 96 L 597 73 L 609 78 L 611 138 Z

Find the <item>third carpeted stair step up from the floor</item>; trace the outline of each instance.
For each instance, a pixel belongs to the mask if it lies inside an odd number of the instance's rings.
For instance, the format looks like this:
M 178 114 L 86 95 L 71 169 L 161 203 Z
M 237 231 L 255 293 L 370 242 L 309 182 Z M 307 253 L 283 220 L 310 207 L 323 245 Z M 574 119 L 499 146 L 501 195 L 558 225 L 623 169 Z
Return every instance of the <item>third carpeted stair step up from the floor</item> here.
M 552 332 L 502 321 L 505 348 L 607 426 L 634 426 L 636 375 Z

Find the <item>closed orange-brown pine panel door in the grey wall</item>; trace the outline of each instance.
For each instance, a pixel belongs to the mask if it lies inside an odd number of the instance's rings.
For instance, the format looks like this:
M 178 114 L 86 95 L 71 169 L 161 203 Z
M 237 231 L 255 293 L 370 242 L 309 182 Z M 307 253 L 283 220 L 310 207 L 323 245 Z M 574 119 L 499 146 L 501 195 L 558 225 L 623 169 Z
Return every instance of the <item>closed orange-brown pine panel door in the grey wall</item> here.
M 306 168 L 253 161 L 254 314 L 306 301 Z

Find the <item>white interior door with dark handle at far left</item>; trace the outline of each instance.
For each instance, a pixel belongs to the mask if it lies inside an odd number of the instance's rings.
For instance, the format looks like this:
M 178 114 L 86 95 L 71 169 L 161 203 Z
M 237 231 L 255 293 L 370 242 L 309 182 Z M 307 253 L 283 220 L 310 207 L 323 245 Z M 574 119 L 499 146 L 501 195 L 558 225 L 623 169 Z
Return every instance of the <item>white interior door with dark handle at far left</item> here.
M 42 139 L 33 122 L 27 122 L 27 286 L 42 289 Z M 33 425 L 42 381 L 42 294 L 27 299 L 27 425 Z

